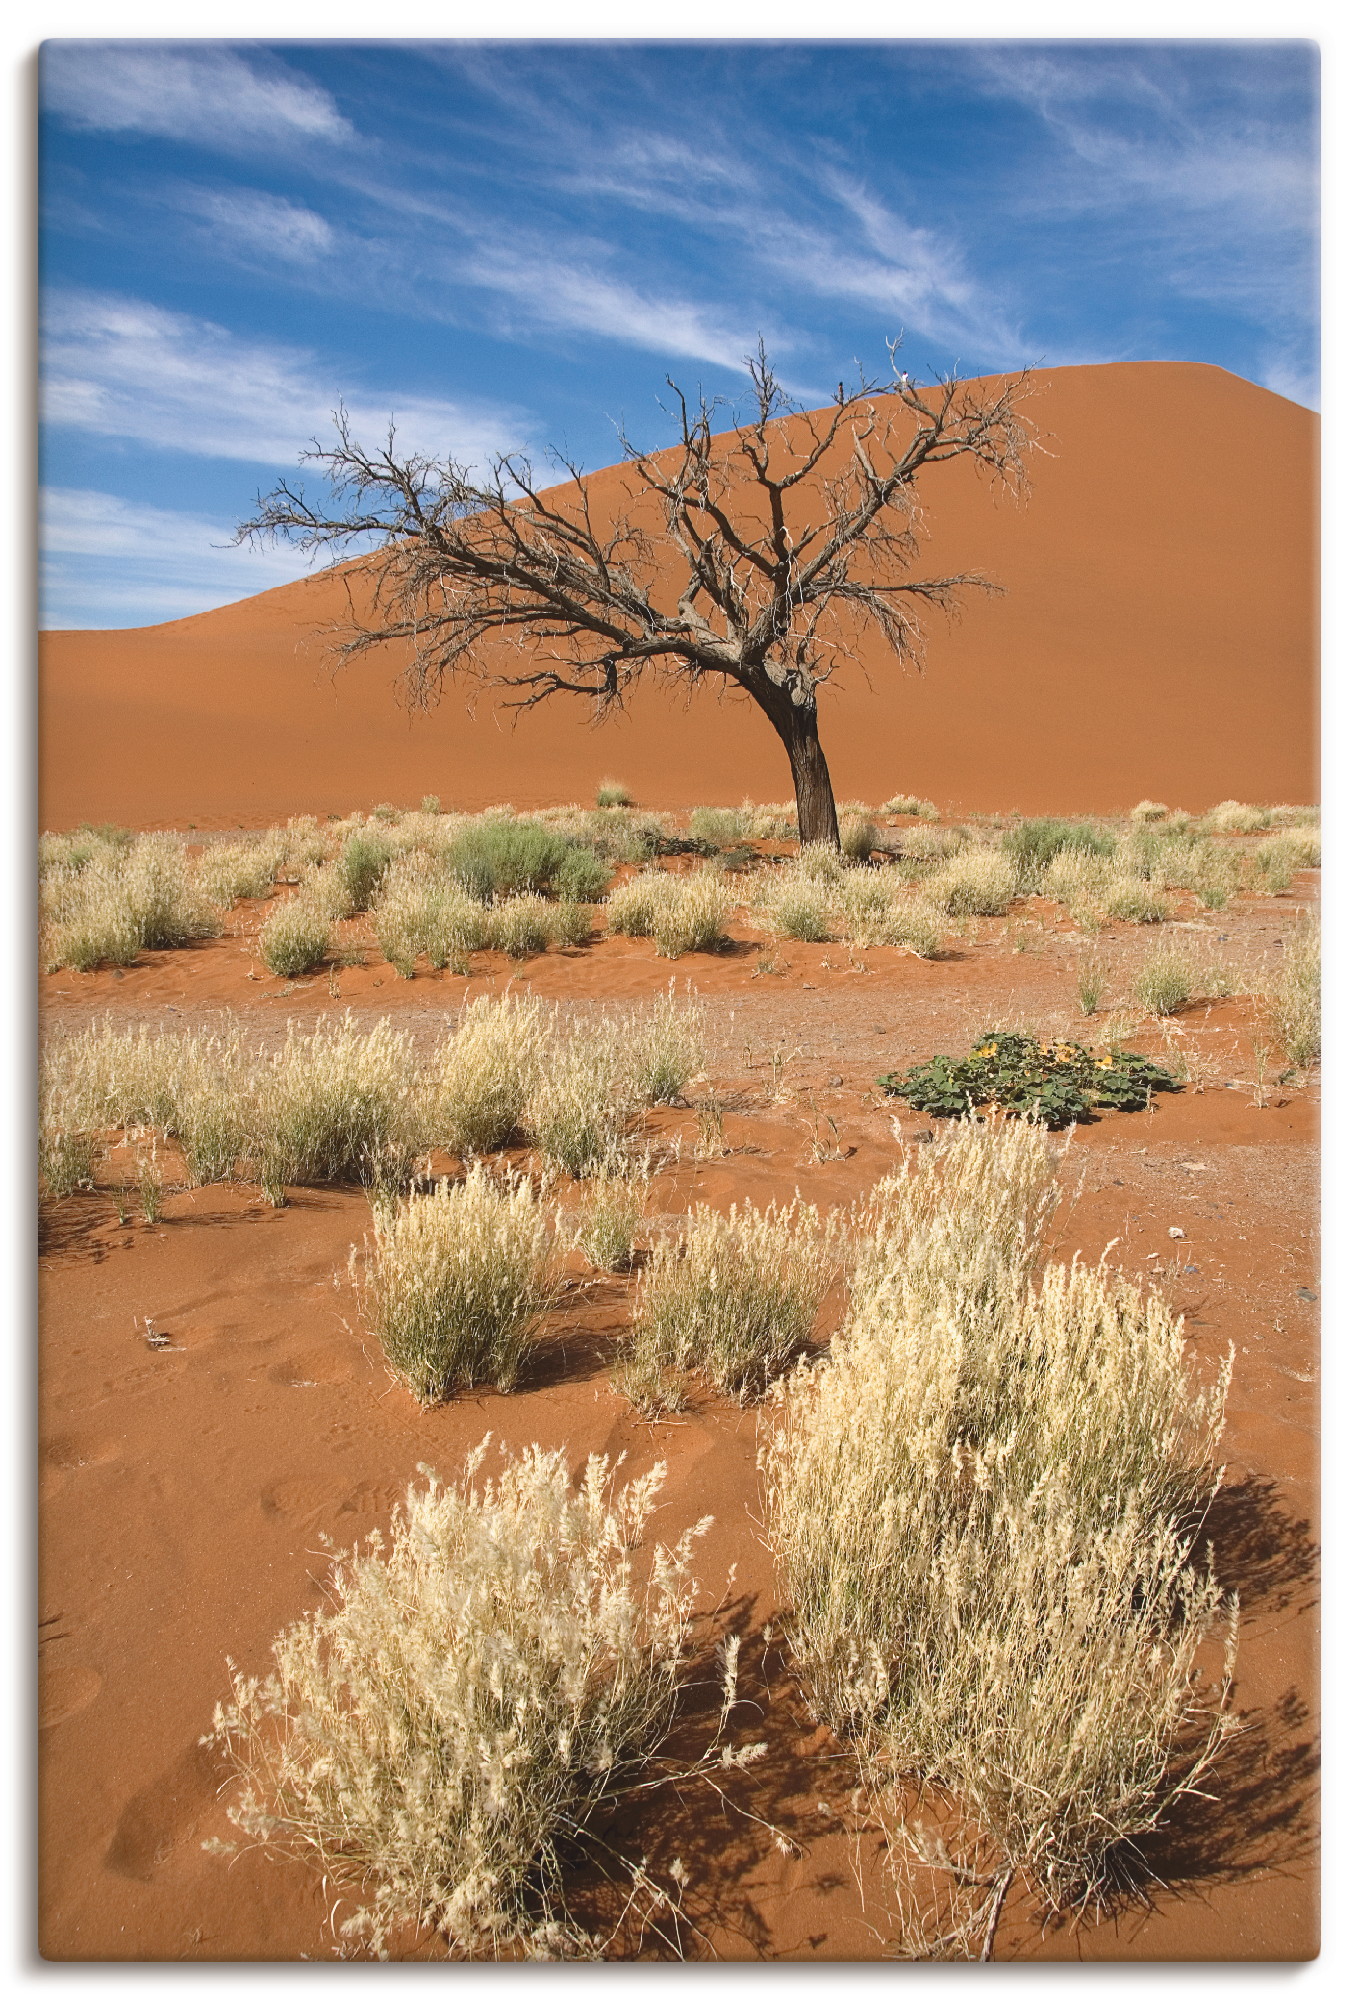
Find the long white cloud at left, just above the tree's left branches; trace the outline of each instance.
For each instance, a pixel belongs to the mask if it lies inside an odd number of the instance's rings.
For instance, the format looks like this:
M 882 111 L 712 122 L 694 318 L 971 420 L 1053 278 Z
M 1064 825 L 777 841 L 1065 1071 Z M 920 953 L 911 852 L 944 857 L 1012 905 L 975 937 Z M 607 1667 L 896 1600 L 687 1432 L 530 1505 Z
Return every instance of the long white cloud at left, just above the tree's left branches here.
M 344 402 L 360 438 L 396 422 L 408 450 L 484 464 L 522 444 L 514 412 L 420 396 L 378 400 L 304 348 L 244 340 L 136 298 L 64 292 L 48 304 L 50 424 L 170 452 L 296 464 Z

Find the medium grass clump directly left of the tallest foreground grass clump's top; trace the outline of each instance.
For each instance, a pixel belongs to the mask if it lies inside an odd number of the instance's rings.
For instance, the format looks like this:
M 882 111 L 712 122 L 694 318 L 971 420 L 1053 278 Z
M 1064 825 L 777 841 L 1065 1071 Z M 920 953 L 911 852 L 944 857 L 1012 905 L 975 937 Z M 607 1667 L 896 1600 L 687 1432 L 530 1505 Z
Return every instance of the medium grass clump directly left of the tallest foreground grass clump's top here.
M 674 1406 L 693 1370 L 729 1396 L 761 1396 L 811 1340 L 837 1270 L 837 1232 L 805 1202 L 697 1208 L 681 1242 L 652 1252 L 620 1388 Z

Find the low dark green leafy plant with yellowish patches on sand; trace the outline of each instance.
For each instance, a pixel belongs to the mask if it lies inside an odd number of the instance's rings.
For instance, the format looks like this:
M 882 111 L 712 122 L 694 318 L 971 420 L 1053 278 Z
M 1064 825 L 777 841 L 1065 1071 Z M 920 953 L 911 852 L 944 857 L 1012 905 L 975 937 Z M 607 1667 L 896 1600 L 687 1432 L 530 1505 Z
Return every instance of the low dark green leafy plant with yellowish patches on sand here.
M 1083 1122 L 1095 1108 L 1145 1110 L 1153 1090 L 1177 1088 L 1145 1056 L 1127 1050 L 1095 1056 L 1079 1042 L 1037 1042 L 1005 1030 L 983 1034 L 961 1060 L 935 1056 L 879 1076 L 877 1086 L 933 1118 L 971 1118 L 995 1106 L 1035 1116 L 1049 1130 Z

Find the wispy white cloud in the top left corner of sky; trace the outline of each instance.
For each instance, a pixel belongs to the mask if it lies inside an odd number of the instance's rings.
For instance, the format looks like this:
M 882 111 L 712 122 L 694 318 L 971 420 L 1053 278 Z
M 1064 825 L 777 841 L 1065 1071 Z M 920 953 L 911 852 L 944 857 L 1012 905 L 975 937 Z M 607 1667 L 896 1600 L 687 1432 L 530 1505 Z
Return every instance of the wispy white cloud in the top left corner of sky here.
M 354 140 L 336 100 L 264 50 L 214 42 L 48 42 L 42 100 L 70 124 L 238 152 Z

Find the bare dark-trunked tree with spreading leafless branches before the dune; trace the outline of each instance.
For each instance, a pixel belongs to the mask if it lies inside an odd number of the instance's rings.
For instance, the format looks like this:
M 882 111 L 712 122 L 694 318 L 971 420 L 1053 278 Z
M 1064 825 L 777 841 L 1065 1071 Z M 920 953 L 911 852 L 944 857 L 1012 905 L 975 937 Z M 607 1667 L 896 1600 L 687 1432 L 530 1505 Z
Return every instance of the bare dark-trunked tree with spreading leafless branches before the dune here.
M 913 574 L 919 474 L 971 458 L 1017 490 L 1033 442 L 1019 414 L 1027 376 L 921 386 L 897 368 L 895 342 L 887 354 L 887 380 L 861 376 L 827 410 L 801 412 L 761 342 L 747 362 L 753 418 L 725 434 L 713 420 L 733 406 L 689 406 L 670 382 L 678 444 L 644 452 L 620 434 L 622 502 L 568 460 L 540 488 L 518 454 L 474 478 L 454 460 L 398 458 L 392 430 L 368 452 L 342 410 L 338 442 L 302 460 L 326 468 L 336 512 L 284 482 L 236 540 L 368 546 L 350 572 L 350 608 L 356 594 L 364 604 L 338 654 L 404 642 L 418 706 L 460 674 L 512 708 L 574 694 L 598 716 L 648 672 L 739 688 L 787 752 L 801 838 L 837 844 L 817 688 L 855 660 L 867 628 L 917 664 L 921 606 L 953 610 L 963 588 L 995 588 L 971 572 Z

